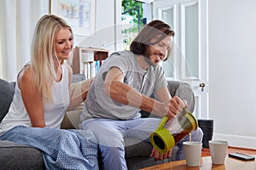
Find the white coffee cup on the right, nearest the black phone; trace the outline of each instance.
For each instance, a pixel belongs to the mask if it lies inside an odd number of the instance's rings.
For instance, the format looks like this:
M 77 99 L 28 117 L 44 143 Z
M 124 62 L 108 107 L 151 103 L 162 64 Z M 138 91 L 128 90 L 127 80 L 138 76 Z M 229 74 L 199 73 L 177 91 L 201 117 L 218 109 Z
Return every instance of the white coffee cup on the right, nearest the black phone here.
M 228 150 L 228 142 L 224 140 L 210 140 L 210 152 L 213 164 L 224 164 Z

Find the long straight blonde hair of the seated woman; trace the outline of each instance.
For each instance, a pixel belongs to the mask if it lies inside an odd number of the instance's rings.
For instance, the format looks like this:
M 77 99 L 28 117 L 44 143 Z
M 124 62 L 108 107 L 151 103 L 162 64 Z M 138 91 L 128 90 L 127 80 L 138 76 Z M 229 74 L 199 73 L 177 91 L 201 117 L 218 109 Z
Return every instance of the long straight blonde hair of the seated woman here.
M 52 100 L 51 88 L 56 80 L 56 69 L 62 65 L 55 52 L 55 37 L 61 28 L 68 28 L 72 35 L 71 26 L 61 17 L 45 14 L 38 20 L 32 37 L 31 56 L 32 72 L 38 93 L 47 101 Z

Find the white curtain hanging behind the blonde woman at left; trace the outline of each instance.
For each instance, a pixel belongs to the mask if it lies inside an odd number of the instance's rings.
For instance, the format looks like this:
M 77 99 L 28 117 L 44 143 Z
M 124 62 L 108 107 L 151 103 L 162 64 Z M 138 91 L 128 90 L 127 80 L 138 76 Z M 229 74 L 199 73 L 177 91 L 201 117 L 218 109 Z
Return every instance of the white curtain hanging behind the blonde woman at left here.
M 1 0 L 0 77 L 15 81 L 30 58 L 32 31 L 42 14 L 49 13 L 49 1 Z

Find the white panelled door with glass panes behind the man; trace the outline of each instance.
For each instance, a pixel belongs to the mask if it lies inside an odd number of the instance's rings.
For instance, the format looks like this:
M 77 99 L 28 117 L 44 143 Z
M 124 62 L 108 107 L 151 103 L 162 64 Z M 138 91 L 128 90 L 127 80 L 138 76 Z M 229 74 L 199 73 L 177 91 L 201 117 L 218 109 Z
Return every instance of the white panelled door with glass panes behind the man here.
M 197 118 L 208 113 L 207 0 L 158 0 L 154 20 L 163 20 L 176 32 L 172 57 L 163 68 L 167 79 L 189 82 L 195 93 Z

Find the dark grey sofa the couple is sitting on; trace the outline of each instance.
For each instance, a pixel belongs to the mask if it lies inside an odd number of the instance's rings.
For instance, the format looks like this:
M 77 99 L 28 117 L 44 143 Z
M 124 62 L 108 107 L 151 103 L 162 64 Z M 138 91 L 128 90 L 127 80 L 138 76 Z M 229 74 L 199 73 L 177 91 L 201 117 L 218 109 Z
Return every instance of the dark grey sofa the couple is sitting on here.
M 75 75 L 73 82 L 83 80 L 84 77 Z M 195 108 L 195 96 L 188 83 L 168 81 L 169 91 L 172 96 L 177 95 L 181 99 L 186 99 L 189 104 L 188 110 L 193 112 Z M 6 82 L 0 78 L 0 122 L 9 111 L 9 105 L 15 93 L 15 82 Z M 143 117 L 150 116 L 142 111 Z M 164 161 L 154 161 L 149 155 L 152 145 L 137 139 L 125 139 L 125 159 L 129 169 L 139 169 L 149 167 L 166 161 L 175 160 L 176 148 L 172 150 L 172 157 Z M 101 167 L 101 156 L 99 155 L 99 164 Z M 26 145 L 15 144 L 10 141 L 0 140 L 0 169 L 44 169 L 43 156 L 40 150 Z

